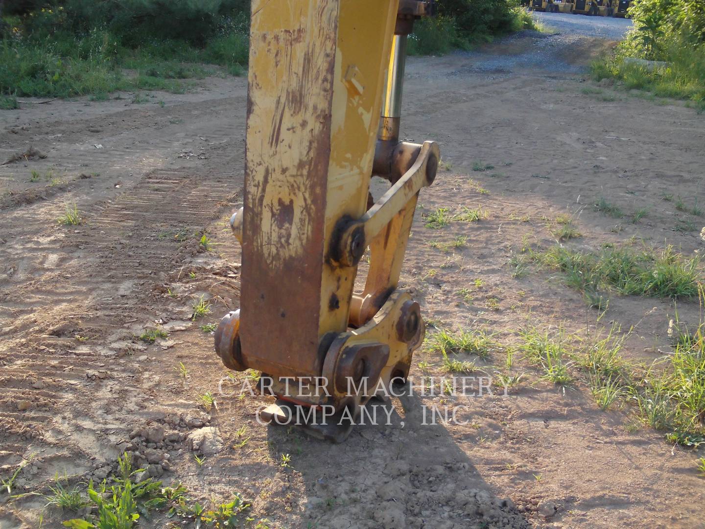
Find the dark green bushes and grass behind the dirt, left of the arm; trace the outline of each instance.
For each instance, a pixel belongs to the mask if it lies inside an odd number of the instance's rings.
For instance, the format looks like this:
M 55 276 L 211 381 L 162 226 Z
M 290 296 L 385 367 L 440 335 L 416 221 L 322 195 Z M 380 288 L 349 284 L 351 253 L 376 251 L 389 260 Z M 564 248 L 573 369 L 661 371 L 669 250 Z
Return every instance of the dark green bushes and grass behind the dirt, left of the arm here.
M 181 93 L 188 85 L 180 80 L 211 73 L 184 63 L 219 64 L 237 75 L 247 65 L 244 0 L 65 0 L 40 9 L 44 4 L 25 2 L 24 16 L 0 35 L 0 94 Z M 0 100 L 0 108 L 13 101 Z

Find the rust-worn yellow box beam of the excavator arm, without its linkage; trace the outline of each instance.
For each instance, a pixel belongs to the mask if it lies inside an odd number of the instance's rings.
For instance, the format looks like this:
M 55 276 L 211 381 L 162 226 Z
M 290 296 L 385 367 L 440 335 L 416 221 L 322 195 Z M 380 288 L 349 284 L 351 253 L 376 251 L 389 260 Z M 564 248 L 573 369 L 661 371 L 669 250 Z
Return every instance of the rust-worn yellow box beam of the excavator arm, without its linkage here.
M 240 341 L 243 364 L 319 375 L 348 329 L 357 267 L 333 230 L 365 212 L 398 0 L 253 0 Z

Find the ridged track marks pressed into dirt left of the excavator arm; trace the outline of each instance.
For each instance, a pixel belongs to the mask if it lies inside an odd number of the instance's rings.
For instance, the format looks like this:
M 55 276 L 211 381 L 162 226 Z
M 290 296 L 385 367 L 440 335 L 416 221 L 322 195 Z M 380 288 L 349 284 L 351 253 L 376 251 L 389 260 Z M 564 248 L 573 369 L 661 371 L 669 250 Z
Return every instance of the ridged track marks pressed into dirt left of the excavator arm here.
M 200 232 L 242 186 L 222 169 L 202 171 L 149 172 L 59 233 L 22 212 L 29 220 L 0 245 L 0 262 L 14 267 L 0 284 L 0 465 L 35 454 L 27 473 L 36 485 L 114 461 L 106 446 L 124 435 L 123 414 L 138 414 L 144 394 L 139 367 L 123 358 L 140 348 L 125 325 L 154 319 L 152 289 L 192 245 L 173 233 Z

